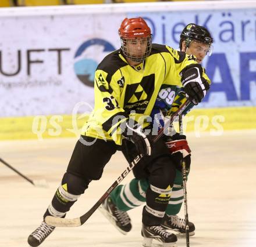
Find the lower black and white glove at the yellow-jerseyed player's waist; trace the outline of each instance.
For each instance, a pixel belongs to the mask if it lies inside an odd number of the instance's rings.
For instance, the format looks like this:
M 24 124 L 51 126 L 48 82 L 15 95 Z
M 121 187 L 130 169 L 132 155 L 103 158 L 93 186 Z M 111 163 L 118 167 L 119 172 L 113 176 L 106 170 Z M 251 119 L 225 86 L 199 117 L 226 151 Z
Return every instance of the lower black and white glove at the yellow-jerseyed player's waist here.
M 123 123 L 121 126 L 122 135 L 126 139 L 132 141 L 139 154 L 151 155 L 153 140 L 150 135 L 145 135 L 141 125 L 131 119 Z

